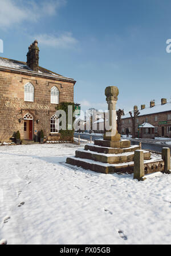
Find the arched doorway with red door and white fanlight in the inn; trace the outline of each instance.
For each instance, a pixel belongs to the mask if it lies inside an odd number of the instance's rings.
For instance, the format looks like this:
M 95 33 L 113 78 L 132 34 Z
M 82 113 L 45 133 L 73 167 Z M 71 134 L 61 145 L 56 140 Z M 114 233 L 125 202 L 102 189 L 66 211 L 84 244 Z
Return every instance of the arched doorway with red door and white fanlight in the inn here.
M 33 132 L 33 118 L 29 113 L 27 113 L 24 116 L 24 139 L 32 140 L 33 138 L 32 132 Z

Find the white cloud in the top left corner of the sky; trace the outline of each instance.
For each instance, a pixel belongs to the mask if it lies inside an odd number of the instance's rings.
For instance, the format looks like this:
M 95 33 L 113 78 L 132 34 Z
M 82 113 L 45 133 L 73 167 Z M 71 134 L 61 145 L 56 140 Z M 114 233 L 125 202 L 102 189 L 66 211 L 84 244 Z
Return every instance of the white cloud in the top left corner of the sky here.
M 66 0 L 0 0 L 0 27 L 2 29 L 22 23 L 38 21 L 44 16 L 55 15 Z

